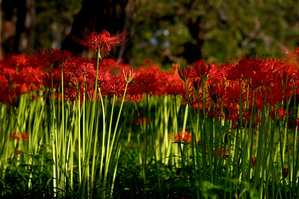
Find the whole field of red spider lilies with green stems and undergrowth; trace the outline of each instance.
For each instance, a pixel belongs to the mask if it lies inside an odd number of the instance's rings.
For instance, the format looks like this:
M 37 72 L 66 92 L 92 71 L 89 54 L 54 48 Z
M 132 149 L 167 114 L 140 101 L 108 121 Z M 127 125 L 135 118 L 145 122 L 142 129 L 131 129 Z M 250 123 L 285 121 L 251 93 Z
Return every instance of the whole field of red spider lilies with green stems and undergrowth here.
M 101 58 L 126 31 L 73 39 L 97 57 L 0 61 L 1 198 L 298 198 L 297 62 L 164 71 Z

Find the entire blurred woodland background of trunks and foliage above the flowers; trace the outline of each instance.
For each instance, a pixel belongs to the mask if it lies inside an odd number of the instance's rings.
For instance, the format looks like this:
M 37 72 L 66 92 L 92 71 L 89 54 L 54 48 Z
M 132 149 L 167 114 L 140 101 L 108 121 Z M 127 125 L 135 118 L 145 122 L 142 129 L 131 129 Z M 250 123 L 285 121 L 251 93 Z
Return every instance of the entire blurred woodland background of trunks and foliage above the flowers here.
M 94 56 L 69 35 L 127 28 L 129 40 L 110 54 L 135 66 L 146 58 L 167 66 L 277 55 L 283 45 L 297 48 L 299 36 L 299 4 L 292 0 L 2 0 L 1 16 L 1 54 L 32 46 Z

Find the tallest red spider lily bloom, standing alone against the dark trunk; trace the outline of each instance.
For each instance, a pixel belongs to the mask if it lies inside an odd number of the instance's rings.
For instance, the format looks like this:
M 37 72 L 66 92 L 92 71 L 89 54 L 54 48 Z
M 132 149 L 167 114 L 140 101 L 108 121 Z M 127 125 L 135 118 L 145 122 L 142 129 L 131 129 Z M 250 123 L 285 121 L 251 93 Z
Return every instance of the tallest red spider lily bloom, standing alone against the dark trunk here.
M 118 33 L 117 33 L 118 34 Z M 71 36 L 71 38 L 80 45 L 87 46 L 89 49 L 93 48 L 95 51 L 99 48 L 100 51 L 103 50 L 106 45 L 105 51 L 109 52 L 111 46 L 121 45 L 122 41 L 126 38 L 126 30 L 124 30 L 120 35 L 110 37 L 110 33 L 106 30 L 102 30 L 102 33 L 97 34 L 96 32 L 91 32 L 89 36 L 83 34 L 83 39 L 77 36 Z

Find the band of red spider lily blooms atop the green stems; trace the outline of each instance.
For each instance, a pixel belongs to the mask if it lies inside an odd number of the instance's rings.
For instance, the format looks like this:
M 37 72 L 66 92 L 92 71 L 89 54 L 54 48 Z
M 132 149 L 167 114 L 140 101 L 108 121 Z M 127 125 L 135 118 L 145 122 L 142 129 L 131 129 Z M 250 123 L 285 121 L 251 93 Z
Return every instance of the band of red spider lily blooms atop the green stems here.
M 83 40 L 74 37 L 74 40 L 94 50 L 102 50 L 106 45 L 105 50 L 109 51 L 110 45 L 120 44 L 125 36 L 125 31 L 114 37 L 103 31 L 84 36 Z M 120 97 L 124 93 L 126 79 L 125 76 L 113 74 L 121 74 L 123 69 L 133 69 L 122 61 L 102 59 L 96 77 L 97 60 L 93 58 L 83 58 L 57 49 L 31 50 L 30 55 L 13 55 L 0 62 L 0 89 L 4 93 L 0 97 L 2 103 L 14 103 L 20 95 L 40 88 L 63 88 L 64 93 L 67 93 L 63 96 L 64 101 L 77 103 L 79 98 L 82 102 L 84 85 L 86 98 L 95 97 L 96 78 L 102 95 Z M 179 96 L 185 106 L 189 101 L 194 113 L 202 115 L 205 112 L 207 118 L 232 121 L 232 129 L 238 128 L 239 124 L 242 128 L 247 124 L 249 129 L 251 121 L 251 129 L 255 133 L 261 122 L 259 115 L 264 99 L 270 110 L 267 115 L 275 120 L 278 119 L 276 105 L 298 94 L 299 70 L 281 58 L 243 56 L 237 64 L 228 61 L 207 64 L 200 60 L 183 67 L 182 71 L 178 64 L 173 64 L 170 70 L 164 72 L 149 59 L 144 63 L 148 66 L 134 69 L 135 76 L 128 84 L 126 99 L 132 97 L 139 100 L 144 94 Z M 56 96 L 62 98 L 60 90 L 56 90 Z M 283 109 L 279 113 L 280 117 L 285 115 Z M 293 123 L 296 124 L 296 121 Z

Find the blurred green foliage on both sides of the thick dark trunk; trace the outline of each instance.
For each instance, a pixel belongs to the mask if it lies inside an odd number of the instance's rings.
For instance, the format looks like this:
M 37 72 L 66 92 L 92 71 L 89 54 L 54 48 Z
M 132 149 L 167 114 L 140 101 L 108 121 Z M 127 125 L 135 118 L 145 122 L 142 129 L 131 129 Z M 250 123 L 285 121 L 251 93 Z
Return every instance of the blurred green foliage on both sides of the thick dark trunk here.
M 140 0 L 130 64 L 145 58 L 154 63 L 187 64 L 186 43 L 200 49 L 200 58 L 279 54 L 283 45 L 297 47 L 299 4 L 292 0 Z M 71 32 L 82 0 L 36 0 L 35 47 L 60 47 Z M 195 28 L 194 28 L 195 27 Z M 84 32 L 84 30 L 83 30 Z M 192 51 L 192 50 L 191 50 Z M 190 61 L 190 60 L 189 60 Z

